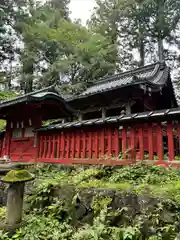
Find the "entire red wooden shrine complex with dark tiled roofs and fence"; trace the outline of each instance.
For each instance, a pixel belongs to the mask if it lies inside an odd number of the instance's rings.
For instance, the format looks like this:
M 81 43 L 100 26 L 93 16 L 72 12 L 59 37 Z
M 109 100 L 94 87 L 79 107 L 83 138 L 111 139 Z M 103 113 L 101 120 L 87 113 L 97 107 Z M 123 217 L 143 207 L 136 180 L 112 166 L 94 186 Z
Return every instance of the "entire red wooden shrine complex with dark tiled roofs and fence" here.
M 101 79 L 73 98 L 50 87 L 5 101 L 0 116 L 1 156 L 12 161 L 179 165 L 180 108 L 164 63 Z

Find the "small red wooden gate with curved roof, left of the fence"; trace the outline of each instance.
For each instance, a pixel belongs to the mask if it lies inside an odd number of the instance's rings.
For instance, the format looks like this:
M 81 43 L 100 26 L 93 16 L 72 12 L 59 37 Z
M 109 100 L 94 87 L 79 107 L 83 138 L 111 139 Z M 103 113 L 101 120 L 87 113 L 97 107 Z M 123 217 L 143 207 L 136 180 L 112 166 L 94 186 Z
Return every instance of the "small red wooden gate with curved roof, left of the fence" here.
M 1 156 L 30 161 L 37 154 L 34 129 L 45 120 L 69 117 L 72 112 L 54 86 L 2 102 L 0 117 L 7 121 L 7 126 L 5 137 L 1 138 Z

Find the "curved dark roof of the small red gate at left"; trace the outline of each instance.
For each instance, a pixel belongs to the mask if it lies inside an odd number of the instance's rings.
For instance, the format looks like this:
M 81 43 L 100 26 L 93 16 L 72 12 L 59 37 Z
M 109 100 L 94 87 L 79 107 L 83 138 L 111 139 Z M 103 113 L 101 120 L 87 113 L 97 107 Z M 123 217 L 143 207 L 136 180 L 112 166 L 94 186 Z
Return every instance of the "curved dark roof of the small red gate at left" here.
M 66 101 L 58 94 L 56 86 L 50 86 L 35 92 L 27 93 L 16 98 L 0 102 L 0 109 L 9 107 L 22 102 L 43 101 L 46 99 L 54 99 L 61 102 L 68 112 L 74 112 L 74 110 L 66 103 Z

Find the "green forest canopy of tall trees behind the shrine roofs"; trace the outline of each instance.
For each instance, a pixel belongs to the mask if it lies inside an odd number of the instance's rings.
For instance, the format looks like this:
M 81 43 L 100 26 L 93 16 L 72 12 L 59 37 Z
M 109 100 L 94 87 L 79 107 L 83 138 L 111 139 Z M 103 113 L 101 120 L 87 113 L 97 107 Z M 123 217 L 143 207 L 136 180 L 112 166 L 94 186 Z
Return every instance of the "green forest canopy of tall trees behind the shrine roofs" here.
M 31 92 L 57 83 L 78 93 L 99 78 L 166 61 L 178 83 L 177 0 L 96 0 L 86 26 L 69 0 L 6 0 L 0 5 L 0 83 Z

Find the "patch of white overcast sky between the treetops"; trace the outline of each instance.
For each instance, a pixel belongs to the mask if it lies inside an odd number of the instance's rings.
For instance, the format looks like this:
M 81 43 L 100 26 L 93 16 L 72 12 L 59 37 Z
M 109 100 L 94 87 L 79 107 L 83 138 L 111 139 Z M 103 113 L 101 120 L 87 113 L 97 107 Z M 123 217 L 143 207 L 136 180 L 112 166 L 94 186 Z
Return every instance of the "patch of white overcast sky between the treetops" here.
M 70 11 L 71 17 L 73 19 L 80 18 L 82 23 L 85 24 L 86 21 L 91 16 L 91 11 L 95 6 L 95 0 L 71 0 Z

